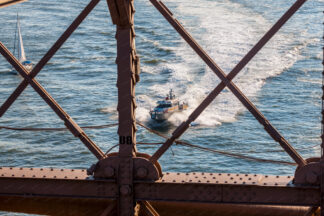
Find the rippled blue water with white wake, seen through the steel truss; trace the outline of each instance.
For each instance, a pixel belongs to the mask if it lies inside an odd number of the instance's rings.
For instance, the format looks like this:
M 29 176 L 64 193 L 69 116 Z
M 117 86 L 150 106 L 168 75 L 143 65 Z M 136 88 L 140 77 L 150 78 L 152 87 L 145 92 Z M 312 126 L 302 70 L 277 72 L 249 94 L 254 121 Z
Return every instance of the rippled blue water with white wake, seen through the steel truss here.
M 185 28 L 228 73 L 293 3 L 292 0 L 165 1 Z M 310 0 L 234 79 L 237 86 L 304 158 L 320 155 L 323 0 Z M 87 4 L 35 1 L 0 10 L 0 40 L 13 49 L 19 11 L 27 58 L 39 61 Z M 136 0 L 136 46 L 141 82 L 136 86 L 138 121 L 170 135 L 219 83 L 149 1 Z M 101 1 L 37 76 L 37 80 L 80 125 L 117 121 L 115 26 Z M 22 78 L 0 57 L 0 103 Z M 149 110 L 169 89 L 189 103 L 168 123 L 150 121 Z M 28 87 L 0 125 L 63 127 L 47 104 Z M 224 90 L 195 121 L 183 140 L 222 151 L 292 161 L 254 117 Z M 85 130 L 104 151 L 117 144 L 117 127 Z M 88 168 L 96 162 L 69 132 L 0 130 L 0 166 Z M 163 139 L 139 127 L 139 142 Z M 317 145 L 317 146 L 315 146 Z M 315 147 L 313 147 L 315 146 Z M 312 147 L 312 148 L 311 148 Z M 156 146 L 138 146 L 152 154 Z M 117 151 L 117 149 L 115 149 Z M 295 167 L 246 161 L 173 146 L 159 161 L 163 171 L 293 175 Z

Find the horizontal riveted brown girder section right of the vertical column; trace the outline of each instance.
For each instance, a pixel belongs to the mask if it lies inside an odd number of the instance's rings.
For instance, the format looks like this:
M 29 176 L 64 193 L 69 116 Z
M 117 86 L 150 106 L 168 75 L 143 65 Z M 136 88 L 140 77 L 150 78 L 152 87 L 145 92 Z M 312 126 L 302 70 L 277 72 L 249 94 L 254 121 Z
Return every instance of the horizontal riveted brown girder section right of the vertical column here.
M 155 183 L 136 181 L 137 200 L 318 205 L 318 187 L 291 183 L 290 176 L 228 173 L 164 173 Z

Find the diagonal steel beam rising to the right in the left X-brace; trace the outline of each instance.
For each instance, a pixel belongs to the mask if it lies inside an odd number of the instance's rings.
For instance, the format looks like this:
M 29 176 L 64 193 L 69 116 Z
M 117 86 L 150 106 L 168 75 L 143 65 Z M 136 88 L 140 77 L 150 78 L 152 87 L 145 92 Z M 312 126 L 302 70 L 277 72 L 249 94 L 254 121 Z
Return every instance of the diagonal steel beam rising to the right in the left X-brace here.
M 30 78 L 34 78 L 42 68 L 47 64 L 47 62 L 55 55 L 57 50 L 61 48 L 64 42 L 71 36 L 71 34 L 78 28 L 81 22 L 88 16 L 92 9 L 98 4 L 100 0 L 92 0 L 79 14 L 79 16 L 72 22 L 72 24 L 66 29 L 66 31 L 61 35 L 61 37 L 55 42 L 55 44 L 48 50 L 44 57 L 38 62 L 34 69 L 29 74 Z M 15 91 L 9 96 L 9 98 L 0 107 L 0 117 L 9 109 L 9 107 L 15 102 L 19 95 L 28 86 L 28 82 L 24 79 Z

